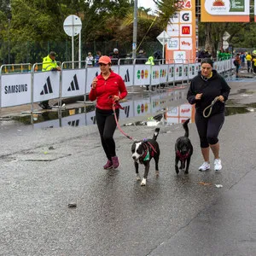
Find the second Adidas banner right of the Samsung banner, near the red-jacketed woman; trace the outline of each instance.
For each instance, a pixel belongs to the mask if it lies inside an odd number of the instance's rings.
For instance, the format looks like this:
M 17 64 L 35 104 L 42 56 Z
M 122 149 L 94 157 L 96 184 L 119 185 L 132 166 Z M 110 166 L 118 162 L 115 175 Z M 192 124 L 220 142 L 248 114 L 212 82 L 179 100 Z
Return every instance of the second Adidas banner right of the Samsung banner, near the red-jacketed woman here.
M 62 71 L 61 97 L 80 96 L 85 92 L 85 70 L 72 69 Z

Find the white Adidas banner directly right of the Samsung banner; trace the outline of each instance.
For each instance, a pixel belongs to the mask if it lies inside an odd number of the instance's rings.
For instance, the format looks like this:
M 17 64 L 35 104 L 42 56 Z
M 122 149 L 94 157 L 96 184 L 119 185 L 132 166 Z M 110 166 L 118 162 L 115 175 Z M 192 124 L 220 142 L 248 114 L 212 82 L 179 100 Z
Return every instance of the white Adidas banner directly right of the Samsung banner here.
M 33 102 L 43 102 L 59 97 L 60 72 L 34 73 Z

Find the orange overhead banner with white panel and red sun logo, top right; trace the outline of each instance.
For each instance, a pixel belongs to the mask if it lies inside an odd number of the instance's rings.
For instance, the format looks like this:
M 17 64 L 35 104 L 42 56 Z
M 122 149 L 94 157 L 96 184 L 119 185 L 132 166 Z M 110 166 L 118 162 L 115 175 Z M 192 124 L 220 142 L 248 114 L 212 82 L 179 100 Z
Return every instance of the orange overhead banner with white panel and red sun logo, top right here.
M 248 0 L 201 0 L 201 22 L 249 22 Z

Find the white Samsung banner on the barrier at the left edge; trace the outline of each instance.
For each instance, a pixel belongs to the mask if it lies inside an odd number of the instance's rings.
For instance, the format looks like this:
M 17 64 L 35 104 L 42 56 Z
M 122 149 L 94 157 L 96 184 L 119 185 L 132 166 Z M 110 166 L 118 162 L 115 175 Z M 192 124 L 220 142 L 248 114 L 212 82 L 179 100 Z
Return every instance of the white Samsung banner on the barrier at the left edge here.
M 11 107 L 31 103 L 31 74 L 1 76 L 1 106 Z

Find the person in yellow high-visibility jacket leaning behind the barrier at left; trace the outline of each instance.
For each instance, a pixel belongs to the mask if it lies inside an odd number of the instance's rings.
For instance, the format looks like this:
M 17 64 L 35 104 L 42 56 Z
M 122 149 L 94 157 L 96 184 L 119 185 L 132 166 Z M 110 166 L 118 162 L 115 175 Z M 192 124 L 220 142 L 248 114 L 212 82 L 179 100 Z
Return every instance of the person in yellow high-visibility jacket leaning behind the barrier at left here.
M 50 51 L 49 55 L 43 58 L 42 71 L 61 71 L 61 67 L 58 66 L 57 61 L 55 61 L 55 52 Z M 40 102 L 39 106 L 43 109 L 51 109 L 49 106 L 49 101 Z

